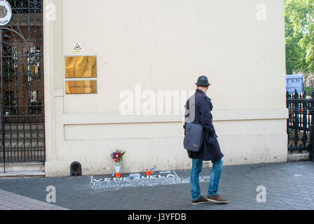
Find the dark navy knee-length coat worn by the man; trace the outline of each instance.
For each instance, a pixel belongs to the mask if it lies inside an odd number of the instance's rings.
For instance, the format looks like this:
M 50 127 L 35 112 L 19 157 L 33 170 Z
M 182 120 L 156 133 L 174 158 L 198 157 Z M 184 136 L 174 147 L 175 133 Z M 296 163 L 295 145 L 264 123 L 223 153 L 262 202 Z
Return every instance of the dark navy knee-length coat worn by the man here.
M 195 98 L 194 98 L 195 97 Z M 193 103 L 195 102 L 195 104 Z M 198 152 L 188 151 L 189 158 L 202 159 L 205 161 L 220 160 L 224 157 L 221 153 L 217 134 L 212 124 L 213 106 L 211 99 L 203 90 L 196 90 L 196 93 L 186 102 L 186 119 L 188 122 L 200 123 L 204 127 L 203 146 Z M 185 126 L 184 126 L 185 127 Z

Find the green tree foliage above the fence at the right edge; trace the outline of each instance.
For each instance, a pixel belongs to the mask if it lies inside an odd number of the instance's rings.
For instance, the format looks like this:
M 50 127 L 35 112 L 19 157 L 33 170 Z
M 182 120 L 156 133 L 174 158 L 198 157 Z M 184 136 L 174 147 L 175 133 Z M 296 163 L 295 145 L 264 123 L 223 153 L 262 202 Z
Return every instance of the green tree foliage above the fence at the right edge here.
M 285 0 L 287 74 L 314 72 L 314 0 Z

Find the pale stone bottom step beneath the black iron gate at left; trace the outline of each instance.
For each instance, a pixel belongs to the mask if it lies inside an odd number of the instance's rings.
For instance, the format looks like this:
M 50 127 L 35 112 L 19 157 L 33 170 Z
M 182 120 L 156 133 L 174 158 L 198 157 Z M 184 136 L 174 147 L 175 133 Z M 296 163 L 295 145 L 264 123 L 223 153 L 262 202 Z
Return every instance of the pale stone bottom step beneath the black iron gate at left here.
M 0 171 L 4 171 L 4 164 L 0 163 Z M 45 172 L 43 162 L 8 162 L 6 172 Z

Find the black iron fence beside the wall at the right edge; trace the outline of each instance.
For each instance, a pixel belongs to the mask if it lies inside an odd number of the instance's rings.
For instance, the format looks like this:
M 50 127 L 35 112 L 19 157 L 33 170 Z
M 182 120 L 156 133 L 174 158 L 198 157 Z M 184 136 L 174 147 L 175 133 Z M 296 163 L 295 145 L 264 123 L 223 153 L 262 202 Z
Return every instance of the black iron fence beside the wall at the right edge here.
M 314 91 L 311 95 L 287 92 L 287 109 L 288 151 L 308 151 L 313 161 Z

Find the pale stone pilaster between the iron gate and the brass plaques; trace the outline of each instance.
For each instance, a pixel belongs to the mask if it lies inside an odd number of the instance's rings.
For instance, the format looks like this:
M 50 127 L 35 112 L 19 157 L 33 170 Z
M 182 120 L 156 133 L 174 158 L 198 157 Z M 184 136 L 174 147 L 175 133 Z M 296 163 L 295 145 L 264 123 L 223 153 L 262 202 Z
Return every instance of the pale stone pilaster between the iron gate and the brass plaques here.
M 56 163 L 63 158 L 64 54 L 62 18 L 62 0 L 43 1 L 46 176 L 51 176 L 57 170 Z

